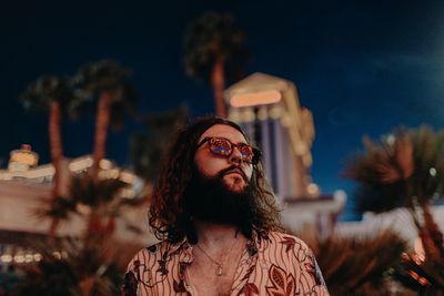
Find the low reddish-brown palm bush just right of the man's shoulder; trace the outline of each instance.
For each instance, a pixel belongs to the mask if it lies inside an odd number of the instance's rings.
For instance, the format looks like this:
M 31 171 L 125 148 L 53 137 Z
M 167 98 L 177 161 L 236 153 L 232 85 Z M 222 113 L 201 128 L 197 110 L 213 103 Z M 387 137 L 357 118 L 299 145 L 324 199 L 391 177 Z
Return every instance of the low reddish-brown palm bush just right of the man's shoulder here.
M 303 237 L 312 248 L 333 295 L 393 295 L 387 274 L 398 264 L 406 244 L 385 231 L 374 237 Z

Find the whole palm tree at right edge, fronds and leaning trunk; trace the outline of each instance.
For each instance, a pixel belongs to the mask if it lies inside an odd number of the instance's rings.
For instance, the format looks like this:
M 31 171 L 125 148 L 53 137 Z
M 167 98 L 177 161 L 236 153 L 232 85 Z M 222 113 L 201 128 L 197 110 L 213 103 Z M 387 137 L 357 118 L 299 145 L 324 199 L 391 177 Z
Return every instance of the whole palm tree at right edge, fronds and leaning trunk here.
M 425 263 L 407 259 L 403 266 L 423 269 L 428 283 L 444 288 L 444 239 L 430 208 L 444 193 L 444 131 L 398 129 L 379 143 L 364 139 L 364 145 L 365 152 L 351 159 L 345 170 L 345 176 L 360 185 L 359 208 L 383 212 L 405 206 L 424 246 Z M 440 267 L 425 272 L 431 265 Z M 421 284 L 413 269 L 401 274 Z

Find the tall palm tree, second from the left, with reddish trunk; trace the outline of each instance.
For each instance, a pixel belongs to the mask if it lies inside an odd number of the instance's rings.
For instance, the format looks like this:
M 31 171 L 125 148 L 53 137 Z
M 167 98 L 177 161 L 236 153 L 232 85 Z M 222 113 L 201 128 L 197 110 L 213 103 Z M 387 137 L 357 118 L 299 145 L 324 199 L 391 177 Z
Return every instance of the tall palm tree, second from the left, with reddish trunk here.
M 117 61 L 103 60 L 82 67 L 74 78 L 77 88 L 88 98 L 97 100 L 94 180 L 98 178 L 100 161 L 105 156 L 108 129 L 121 126 L 124 112 L 133 112 L 137 94 L 129 82 L 130 74 L 131 71 L 121 68 Z

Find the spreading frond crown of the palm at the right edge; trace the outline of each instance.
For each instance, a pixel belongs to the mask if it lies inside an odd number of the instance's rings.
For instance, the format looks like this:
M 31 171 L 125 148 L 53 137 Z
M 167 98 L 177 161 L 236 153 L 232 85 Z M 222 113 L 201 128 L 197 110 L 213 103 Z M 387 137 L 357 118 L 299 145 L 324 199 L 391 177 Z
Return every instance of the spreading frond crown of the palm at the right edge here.
M 444 136 L 427 126 L 397 129 L 374 143 L 364 137 L 365 151 L 351 157 L 344 176 L 359 183 L 360 211 L 382 212 L 414 206 L 444 193 Z

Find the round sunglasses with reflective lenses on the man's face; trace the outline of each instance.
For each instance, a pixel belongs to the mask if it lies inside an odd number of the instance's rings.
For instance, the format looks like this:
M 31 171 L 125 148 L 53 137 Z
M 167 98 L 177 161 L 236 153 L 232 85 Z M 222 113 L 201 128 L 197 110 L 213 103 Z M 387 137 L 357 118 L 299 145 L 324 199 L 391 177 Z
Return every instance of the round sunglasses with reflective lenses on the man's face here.
M 262 153 L 259 149 L 253 147 L 245 143 L 234 144 L 231 143 L 230 140 L 219 136 L 204 137 L 198 144 L 195 150 L 198 150 L 206 142 L 209 143 L 210 152 L 216 156 L 230 157 L 230 155 L 233 153 L 234 147 L 236 147 L 239 152 L 241 152 L 242 162 L 255 165 L 259 163 L 259 160 L 261 159 Z

